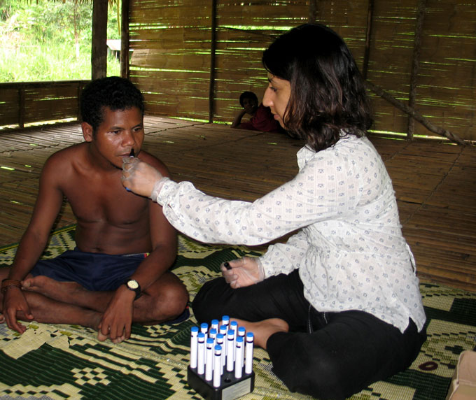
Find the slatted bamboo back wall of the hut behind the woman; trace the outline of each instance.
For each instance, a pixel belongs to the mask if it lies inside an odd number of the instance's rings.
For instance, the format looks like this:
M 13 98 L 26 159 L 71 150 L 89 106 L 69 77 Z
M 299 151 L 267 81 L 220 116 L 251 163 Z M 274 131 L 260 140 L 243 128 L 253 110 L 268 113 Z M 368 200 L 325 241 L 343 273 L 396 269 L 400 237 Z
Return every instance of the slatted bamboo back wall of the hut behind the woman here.
M 265 90 L 262 50 L 313 19 L 344 38 L 374 85 L 476 140 L 474 1 L 130 0 L 130 78 L 148 113 L 230 122 L 241 92 Z M 374 129 L 407 132 L 407 115 L 371 95 Z M 429 132 L 415 124 L 414 134 Z

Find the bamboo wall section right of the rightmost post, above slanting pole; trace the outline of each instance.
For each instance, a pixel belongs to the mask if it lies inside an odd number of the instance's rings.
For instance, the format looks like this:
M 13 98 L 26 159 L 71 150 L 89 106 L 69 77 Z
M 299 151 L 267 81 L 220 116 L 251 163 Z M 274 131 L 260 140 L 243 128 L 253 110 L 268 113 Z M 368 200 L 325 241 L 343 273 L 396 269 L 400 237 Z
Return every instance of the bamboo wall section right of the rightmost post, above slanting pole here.
M 476 139 L 475 31 L 474 1 L 427 1 L 417 106 L 434 124 L 471 140 Z

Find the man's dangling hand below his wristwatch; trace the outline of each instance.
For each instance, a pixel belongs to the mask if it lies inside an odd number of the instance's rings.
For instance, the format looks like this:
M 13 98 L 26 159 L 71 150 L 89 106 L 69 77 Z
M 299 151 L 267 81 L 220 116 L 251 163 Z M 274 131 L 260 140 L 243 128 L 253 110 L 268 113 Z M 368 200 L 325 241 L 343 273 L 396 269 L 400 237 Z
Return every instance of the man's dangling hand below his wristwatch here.
M 130 338 L 135 296 L 125 285 L 120 285 L 99 322 L 99 341 L 110 338 L 113 343 L 120 343 Z

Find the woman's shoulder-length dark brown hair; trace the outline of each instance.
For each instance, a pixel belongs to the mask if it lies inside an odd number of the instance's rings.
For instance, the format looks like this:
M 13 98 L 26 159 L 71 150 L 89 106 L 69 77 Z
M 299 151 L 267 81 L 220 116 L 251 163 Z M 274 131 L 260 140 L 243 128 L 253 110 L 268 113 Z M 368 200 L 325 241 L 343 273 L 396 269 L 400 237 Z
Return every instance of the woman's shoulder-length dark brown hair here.
M 365 84 L 349 48 L 332 29 L 304 24 L 279 36 L 263 53 L 265 69 L 290 82 L 286 129 L 316 151 L 372 124 Z M 344 132 L 344 133 L 342 133 Z

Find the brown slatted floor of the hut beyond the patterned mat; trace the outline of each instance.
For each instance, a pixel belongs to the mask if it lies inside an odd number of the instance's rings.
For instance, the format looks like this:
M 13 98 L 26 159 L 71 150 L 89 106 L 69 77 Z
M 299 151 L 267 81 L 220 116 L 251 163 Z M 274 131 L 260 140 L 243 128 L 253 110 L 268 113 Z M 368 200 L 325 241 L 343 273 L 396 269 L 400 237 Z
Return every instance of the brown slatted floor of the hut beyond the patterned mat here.
M 281 134 L 146 117 L 144 148 L 175 180 L 208 194 L 253 200 L 297 172 L 301 143 Z M 0 131 L 0 246 L 29 222 L 38 176 L 53 152 L 82 141 L 79 124 Z M 422 280 L 476 291 L 476 148 L 372 138 L 398 199 L 400 220 Z M 69 206 L 57 227 L 74 222 Z

